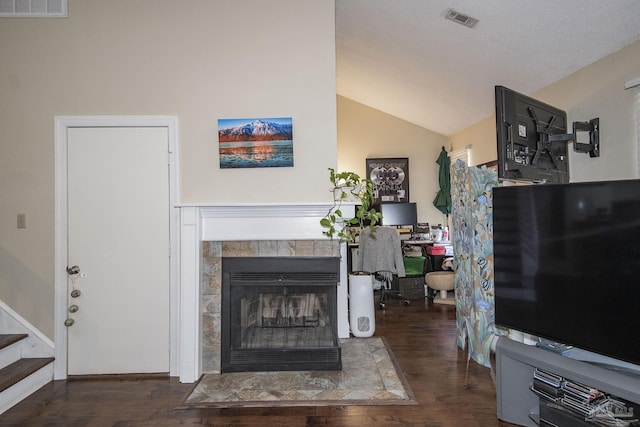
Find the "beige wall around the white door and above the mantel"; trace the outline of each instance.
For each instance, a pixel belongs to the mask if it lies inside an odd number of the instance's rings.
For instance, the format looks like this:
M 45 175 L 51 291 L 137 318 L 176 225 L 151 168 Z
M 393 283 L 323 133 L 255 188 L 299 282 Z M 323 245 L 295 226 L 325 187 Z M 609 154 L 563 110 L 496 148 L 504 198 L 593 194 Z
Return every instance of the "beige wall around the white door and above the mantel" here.
M 177 116 L 182 203 L 329 202 L 334 12 L 333 0 L 69 0 L 68 18 L 0 18 L 0 299 L 53 336 L 56 115 Z M 217 119 L 247 117 L 293 118 L 293 168 L 219 168 Z

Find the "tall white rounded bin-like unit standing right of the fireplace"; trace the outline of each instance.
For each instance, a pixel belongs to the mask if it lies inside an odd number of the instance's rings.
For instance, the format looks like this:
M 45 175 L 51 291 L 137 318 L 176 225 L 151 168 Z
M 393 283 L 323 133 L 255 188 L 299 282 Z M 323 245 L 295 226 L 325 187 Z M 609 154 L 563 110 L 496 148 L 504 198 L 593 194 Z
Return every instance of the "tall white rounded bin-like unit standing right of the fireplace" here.
M 370 337 L 376 330 L 373 276 L 357 271 L 349 274 L 349 325 L 355 337 Z

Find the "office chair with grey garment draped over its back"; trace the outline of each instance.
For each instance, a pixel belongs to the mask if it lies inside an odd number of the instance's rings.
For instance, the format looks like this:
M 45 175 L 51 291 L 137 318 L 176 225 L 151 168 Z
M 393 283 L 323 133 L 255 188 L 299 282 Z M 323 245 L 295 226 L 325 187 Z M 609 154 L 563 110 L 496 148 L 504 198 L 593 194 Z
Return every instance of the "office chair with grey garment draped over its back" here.
M 402 246 L 400 234 L 392 227 L 376 227 L 375 231 L 366 228 L 360 234 L 359 250 L 360 268 L 381 280 L 380 299 L 378 306 L 386 307 L 388 297 L 404 300 L 405 305 L 409 300 L 404 298 L 399 291 L 391 289 L 393 276 L 405 277 L 404 262 L 402 259 Z

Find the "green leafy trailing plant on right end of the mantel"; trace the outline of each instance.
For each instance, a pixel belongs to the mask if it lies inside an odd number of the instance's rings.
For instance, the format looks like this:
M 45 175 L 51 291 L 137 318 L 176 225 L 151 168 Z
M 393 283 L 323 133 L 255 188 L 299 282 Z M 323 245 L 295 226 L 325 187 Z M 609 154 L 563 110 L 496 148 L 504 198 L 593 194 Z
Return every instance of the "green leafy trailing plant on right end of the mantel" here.
M 375 226 L 382 214 L 373 206 L 373 182 L 360 178 L 355 172 L 336 172 L 329 168 L 329 181 L 333 192 L 333 205 L 327 214 L 320 219 L 320 225 L 325 229 L 322 234 L 341 242 L 353 242 L 360 230 L 367 224 L 375 230 Z M 344 218 L 342 204 L 355 202 L 356 211 L 353 218 Z

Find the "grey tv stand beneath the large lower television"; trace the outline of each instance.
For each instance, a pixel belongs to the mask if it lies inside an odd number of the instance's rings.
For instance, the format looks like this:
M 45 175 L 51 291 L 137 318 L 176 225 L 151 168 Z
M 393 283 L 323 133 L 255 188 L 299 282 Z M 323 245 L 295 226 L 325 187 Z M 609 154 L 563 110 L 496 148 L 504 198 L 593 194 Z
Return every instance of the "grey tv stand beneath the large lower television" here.
M 536 368 L 640 404 L 640 378 L 636 375 L 609 370 L 501 337 L 496 345 L 499 419 L 522 426 L 537 426 L 534 418 L 540 402 L 530 390 Z

